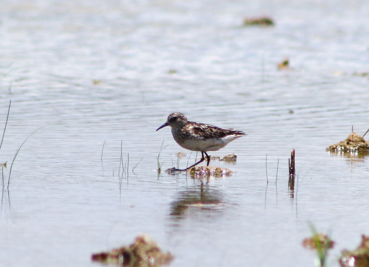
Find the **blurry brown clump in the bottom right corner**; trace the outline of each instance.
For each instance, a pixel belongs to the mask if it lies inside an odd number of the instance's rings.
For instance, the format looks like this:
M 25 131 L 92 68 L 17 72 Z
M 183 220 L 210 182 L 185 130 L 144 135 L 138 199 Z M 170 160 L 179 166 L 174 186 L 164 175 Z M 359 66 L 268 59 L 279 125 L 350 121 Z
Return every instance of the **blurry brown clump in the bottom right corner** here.
M 339 259 L 339 264 L 342 267 L 369 266 L 369 237 L 362 235 L 362 241 L 355 250 L 342 250 L 342 256 Z

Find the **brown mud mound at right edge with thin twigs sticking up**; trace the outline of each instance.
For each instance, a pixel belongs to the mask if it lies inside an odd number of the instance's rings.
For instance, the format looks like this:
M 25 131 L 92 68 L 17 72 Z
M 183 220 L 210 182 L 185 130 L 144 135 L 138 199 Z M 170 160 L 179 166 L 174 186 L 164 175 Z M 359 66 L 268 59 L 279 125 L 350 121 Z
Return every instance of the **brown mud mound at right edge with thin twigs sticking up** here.
M 365 141 L 363 137 L 357 133 L 351 133 L 346 140 L 341 141 L 337 144 L 332 144 L 327 147 L 327 151 L 332 152 L 354 152 L 354 151 L 365 151 L 369 150 L 369 141 Z

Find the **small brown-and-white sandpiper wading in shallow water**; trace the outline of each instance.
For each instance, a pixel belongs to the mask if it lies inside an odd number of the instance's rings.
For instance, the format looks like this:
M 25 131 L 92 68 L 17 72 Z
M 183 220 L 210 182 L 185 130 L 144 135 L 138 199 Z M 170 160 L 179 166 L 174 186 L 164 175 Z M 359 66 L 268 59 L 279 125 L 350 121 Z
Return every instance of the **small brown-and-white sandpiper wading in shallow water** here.
M 231 141 L 246 135 L 243 131 L 221 129 L 209 124 L 189 122 L 186 116 L 177 112 L 170 114 L 166 123 L 156 129 L 156 131 L 168 125 L 172 127 L 173 138 L 177 144 L 188 150 L 200 151 L 202 155 L 199 162 L 181 171 L 188 170 L 203 162 L 205 159 L 204 153 L 207 158 L 206 166 L 209 166 L 210 156 L 206 151 L 217 151 Z

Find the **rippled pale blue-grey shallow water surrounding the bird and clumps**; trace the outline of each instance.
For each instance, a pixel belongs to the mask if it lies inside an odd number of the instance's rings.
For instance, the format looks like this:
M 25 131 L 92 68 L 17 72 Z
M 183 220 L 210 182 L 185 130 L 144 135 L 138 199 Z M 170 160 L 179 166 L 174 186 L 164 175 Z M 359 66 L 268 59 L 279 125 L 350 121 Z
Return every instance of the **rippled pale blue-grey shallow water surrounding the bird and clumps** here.
M 368 156 L 325 151 L 369 126 L 368 76 L 353 75 L 368 71 L 366 1 L 3 6 L 2 266 L 97 266 L 92 253 L 139 233 L 171 266 L 313 266 L 309 222 L 335 240 L 338 266 L 368 234 Z M 242 27 L 259 15 L 276 26 Z M 291 69 L 277 70 L 285 57 Z M 196 157 L 168 127 L 155 131 L 175 111 L 248 133 L 211 152 L 237 155 L 211 162 L 232 176 L 158 175 L 162 144 L 163 169 L 177 152 L 180 167 Z

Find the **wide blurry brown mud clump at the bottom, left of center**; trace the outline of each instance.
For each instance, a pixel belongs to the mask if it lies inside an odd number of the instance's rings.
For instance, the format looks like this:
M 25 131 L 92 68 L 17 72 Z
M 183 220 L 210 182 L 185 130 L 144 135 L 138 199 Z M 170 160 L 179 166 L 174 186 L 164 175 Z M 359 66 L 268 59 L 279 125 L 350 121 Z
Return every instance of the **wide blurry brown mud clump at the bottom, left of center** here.
M 147 235 L 139 235 L 129 246 L 92 254 L 92 260 L 118 266 L 159 267 L 169 264 L 173 256 L 169 252 L 163 253 L 156 242 Z

